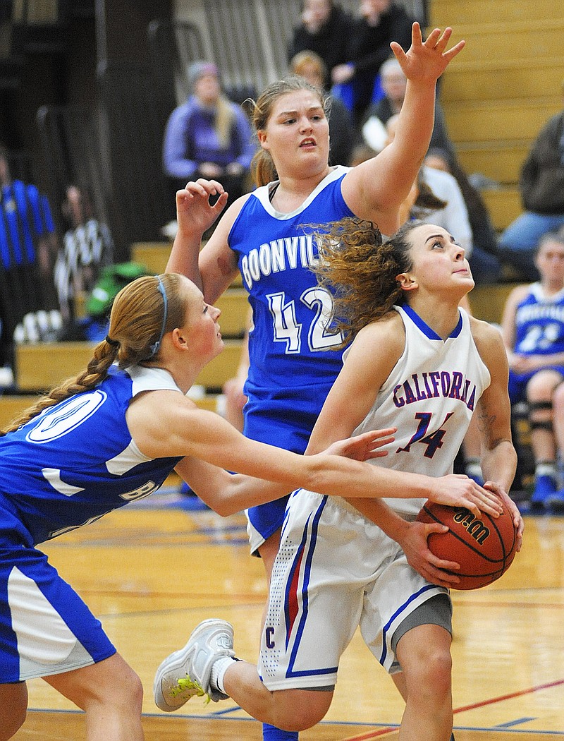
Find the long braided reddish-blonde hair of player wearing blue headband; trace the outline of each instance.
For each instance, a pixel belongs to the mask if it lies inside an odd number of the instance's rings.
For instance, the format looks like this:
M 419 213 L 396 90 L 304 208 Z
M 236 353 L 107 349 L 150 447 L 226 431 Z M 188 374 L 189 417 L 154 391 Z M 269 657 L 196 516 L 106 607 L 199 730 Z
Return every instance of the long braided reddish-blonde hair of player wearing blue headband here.
M 167 296 L 166 308 L 161 285 Z M 161 336 L 165 310 L 165 333 L 184 324 L 186 302 L 180 287 L 181 276 L 176 273 L 143 276 L 128 283 L 115 296 L 107 339 L 95 346 L 92 359 L 84 371 L 41 396 L 35 405 L 22 412 L 6 430 L 0 431 L 0 435 L 17 430 L 44 409 L 74 396 L 75 393 L 91 391 L 106 378 L 113 363 L 117 363 L 119 368 L 128 368 L 144 360 L 152 360 L 153 357 L 157 359 L 158 352 L 152 355 L 152 345 Z

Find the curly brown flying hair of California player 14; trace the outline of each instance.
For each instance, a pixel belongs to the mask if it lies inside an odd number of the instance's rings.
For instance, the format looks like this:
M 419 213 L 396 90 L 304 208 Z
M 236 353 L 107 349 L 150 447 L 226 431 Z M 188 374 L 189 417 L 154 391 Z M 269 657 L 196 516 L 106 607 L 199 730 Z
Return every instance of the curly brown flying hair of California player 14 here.
M 343 333 L 341 347 L 393 305 L 405 303 L 397 275 L 412 268 L 408 236 L 420 224 L 406 222 L 387 241 L 362 219 L 347 217 L 320 227 L 315 236 L 319 262 L 312 270 L 333 295 L 332 325 Z

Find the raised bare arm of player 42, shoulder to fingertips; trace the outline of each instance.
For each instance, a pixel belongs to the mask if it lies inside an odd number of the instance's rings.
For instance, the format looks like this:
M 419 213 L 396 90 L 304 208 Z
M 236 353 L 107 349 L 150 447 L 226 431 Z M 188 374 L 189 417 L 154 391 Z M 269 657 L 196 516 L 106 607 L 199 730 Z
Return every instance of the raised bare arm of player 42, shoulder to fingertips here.
M 434 29 L 423 42 L 418 23 L 412 27 L 412 45 L 405 53 L 392 42 L 392 51 L 407 78 L 406 97 L 392 144 L 373 159 L 353 167 L 343 179 L 343 197 L 361 219 L 375 222 L 392 234 L 399 222 L 397 210 L 406 199 L 429 148 L 434 124 L 437 79 L 463 49 L 459 41 L 446 51 L 451 29 Z

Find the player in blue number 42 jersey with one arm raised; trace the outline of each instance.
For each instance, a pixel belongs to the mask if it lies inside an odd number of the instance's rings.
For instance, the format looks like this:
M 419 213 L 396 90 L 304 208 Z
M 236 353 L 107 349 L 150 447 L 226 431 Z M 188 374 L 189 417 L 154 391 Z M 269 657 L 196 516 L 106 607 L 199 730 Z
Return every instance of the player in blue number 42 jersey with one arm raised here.
M 241 271 L 252 305 L 244 433 L 303 452 L 315 419 L 340 369 L 340 336 L 327 321 L 331 294 L 309 269 L 316 257 L 306 225 L 359 216 L 392 234 L 398 210 L 429 147 L 435 87 L 460 41 L 446 50 L 451 29 L 434 29 L 423 42 L 412 28 L 407 53 L 392 51 L 407 79 L 395 142 L 357 167 L 329 167 L 325 96 L 302 78 L 275 82 L 252 107 L 260 148 L 254 193 L 235 201 L 200 251 L 201 236 L 226 204 L 215 181 L 198 180 L 177 193 L 178 234 L 167 270 L 184 273 L 215 302 Z M 215 205 L 209 196 L 219 193 Z M 198 259 L 199 255 L 199 259 Z M 286 499 L 247 512 L 252 553 L 269 579 L 278 552 Z M 268 741 L 296 739 L 265 729 Z

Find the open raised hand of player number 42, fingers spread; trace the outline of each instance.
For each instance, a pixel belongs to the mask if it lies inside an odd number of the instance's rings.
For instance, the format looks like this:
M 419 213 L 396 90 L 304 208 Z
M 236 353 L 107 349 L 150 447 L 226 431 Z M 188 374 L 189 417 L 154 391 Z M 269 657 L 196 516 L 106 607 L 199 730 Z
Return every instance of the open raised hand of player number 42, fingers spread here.
M 407 52 L 403 51 L 397 41 L 392 41 L 390 47 L 406 78 L 412 82 L 434 85 L 446 70 L 449 62 L 463 50 L 466 44 L 466 41 L 459 41 L 454 47 L 445 51 L 451 35 L 451 28 L 446 28 L 444 31 L 434 28 L 426 41 L 423 41 L 420 25 L 416 21 L 412 26 L 412 45 Z

